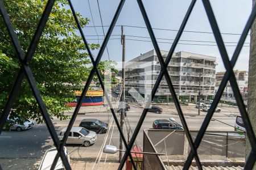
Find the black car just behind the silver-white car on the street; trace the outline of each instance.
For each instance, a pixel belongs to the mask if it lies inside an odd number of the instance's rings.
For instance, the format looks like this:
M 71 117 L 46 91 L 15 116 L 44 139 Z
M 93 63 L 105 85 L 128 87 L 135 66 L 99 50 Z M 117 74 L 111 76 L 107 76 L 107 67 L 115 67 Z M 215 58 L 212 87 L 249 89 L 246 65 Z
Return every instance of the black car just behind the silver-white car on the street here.
M 95 131 L 96 133 L 106 133 L 109 127 L 107 123 L 97 120 L 96 118 L 85 118 L 81 121 L 79 126 Z

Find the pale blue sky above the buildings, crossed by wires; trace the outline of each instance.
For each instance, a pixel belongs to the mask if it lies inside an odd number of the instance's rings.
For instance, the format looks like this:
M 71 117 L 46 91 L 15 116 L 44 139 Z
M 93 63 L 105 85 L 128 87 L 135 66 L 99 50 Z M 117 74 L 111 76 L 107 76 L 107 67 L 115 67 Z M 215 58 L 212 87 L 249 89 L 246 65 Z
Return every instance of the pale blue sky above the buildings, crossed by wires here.
M 102 23 L 104 26 L 107 26 L 103 27 L 105 34 L 108 32 L 109 25 L 112 22 L 119 2 L 120 1 L 117 0 L 98 0 Z M 154 34 L 158 39 L 160 50 L 170 50 L 170 43 L 173 41 L 172 39 L 175 39 L 177 33 L 175 30 L 179 29 L 191 1 L 146 0 L 142 2 L 146 8 L 152 28 L 171 29 L 154 29 Z M 102 27 L 94 27 L 94 25 L 101 26 L 100 12 L 98 10 L 97 1 L 73 0 L 72 3 L 77 12 L 80 12 L 84 18 L 90 19 L 90 22 L 87 25 L 88 27 L 84 28 L 84 34 L 88 42 L 102 44 L 102 39 L 104 38 Z M 220 32 L 223 33 L 222 39 L 224 40 L 225 45 L 229 45 L 226 46 L 226 50 L 231 58 L 237 42 L 240 39 L 240 34 L 242 33 L 247 19 L 249 18 L 252 2 L 251 0 L 212 0 L 210 3 L 212 5 L 213 12 L 216 15 Z M 92 14 L 90 13 L 89 5 Z M 94 24 L 92 21 L 94 21 Z M 102 60 L 109 58 L 113 61 L 122 61 L 122 45 L 120 41 L 121 27 L 119 25 L 146 27 L 136 0 L 126 0 L 113 30 L 112 36 L 108 42 L 108 52 L 105 49 Z M 147 29 L 127 26 L 124 26 L 123 29 L 123 33 L 126 35 L 126 61 L 138 57 L 141 53 L 146 53 L 149 50 L 154 49 L 152 42 L 148 42 L 150 41 L 150 38 L 148 38 L 149 34 Z M 176 46 L 175 52 L 184 51 L 216 57 L 216 62 L 218 63 L 216 66 L 216 71 L 225 71 L 220 52 L 218 51 L 216 41 L 212 34 L 212 29 L 210 27 L 207 14 L 204 10 L 203 3 L 200 0 L 197 0 L 184 30 L 192 32 L 183 32 L 179 44 Z M 193 31 L 197 31 L 197 33 Z M 100 35 L 100 40 L 97 40 L 97 34 Z M 248 70 L 250 50 L 249 42 L 250 37 L 247 36 L 246 44 L 243 46 L 234 70 Z M 94 56 L 97 56 L 98 50 L 94 50 L 93 54 Z

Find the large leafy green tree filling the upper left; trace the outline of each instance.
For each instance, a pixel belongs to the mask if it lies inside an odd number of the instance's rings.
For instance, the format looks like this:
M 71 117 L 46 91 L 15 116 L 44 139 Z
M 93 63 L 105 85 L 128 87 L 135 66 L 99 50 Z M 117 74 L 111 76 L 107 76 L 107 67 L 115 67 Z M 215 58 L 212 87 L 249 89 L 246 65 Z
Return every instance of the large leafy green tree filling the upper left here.
M 47 1 L 44 0 L 6 0 L 5 5 L 18 35 L 24 52 L 28 49 L 32 36 L 42 16 Z M 64 111 L 69 107 L 65 103 L 75 99 L 73 87 L 80 86 L 88 78 L 90 63 L 88 53 L 82 39 L 77 35 L 77 27 L 67 1 L 55 2 L 46 28 L 34 58 L 30 63 L 42 98 L 50 116 L 60 120 L 67 118 Z M 82 27 L 88 24 L 87 18 L 77 13 Z M 14 84 L 20 63 L 16 57 L 13 44 L 7 33 L 2 17 L 0 17 L 0 111 L 5 106 L 7 97 Z M 89 45 L 92 50 L 99 48 L 98 44 Z M 35 118 L 43 122 L 38 104 L 32 95 L 26 79 L 22 82 L 19 95 L 15 100 L 11 117 Z

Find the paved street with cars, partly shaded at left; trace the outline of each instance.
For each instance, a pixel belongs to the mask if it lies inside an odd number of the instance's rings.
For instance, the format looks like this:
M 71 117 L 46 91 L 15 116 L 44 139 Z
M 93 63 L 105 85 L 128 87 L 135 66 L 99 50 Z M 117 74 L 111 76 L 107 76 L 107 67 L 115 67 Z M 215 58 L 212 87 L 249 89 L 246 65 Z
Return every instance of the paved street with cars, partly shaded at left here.
M 137 105 L 130 105 L 131 109 L 127 113 L 127 120 L 129 121 L 131 130 L 133 131 L 138 124 L 139 117 L 142 113 L 142 108 L 138 107 Z M 150 129 L 152 128 L 152 122 L 156 119 L 168 119 L 170 117 L 174 117 L 177 122 L 180 122 L 179 116 L 177 115 L 176 109 L 174 105 L 160 105 L 163 108 L 162 114 L 150 113 L 148 112 L 141 130 L 139 131 L 139 135 L 137 137 L 136 142 L 138 145 L 142 146 L 143 142 L 143 129 Z M 107 111 L 106 108 L 96 107 L 94 108 L 94 113 L 89 111 L 89 107 L 81 108 L 82 113 L 79 114 L 76 118 L 74 126 L 79 126 L 79 123 L 84 118 L 97 118 L 98 120 L 108 122 L 110 124 L 110 120 L 112 120 L 112 114 Z M 188 127 L 190 130 L 199 130 L 204 115 L 206 112 L 201 112 L 201 116 L 197 115 L 197 109 L 195 106 L 183 106 L 182 107 L 187 121 Z M 231 126 L 234 125 L 234 114 L 238 113 L 237 108 L 221 108 L 221 113 L 216 113 L 214 118 L 216 120 L 220 120 L 229 124 Z M 71 115 L 71 114 L 69 114 Z M 118 116 L 119 118 L 119 116 Z M 59 134 L 59 131 L 64 127 L 67 127 L 69 120 L 60 121 L 56 118 L 53 120 L 53 124 L 56 127 L 56 131 Z M 129 127 L 128 122 L 126 121 L 127 127 Z M 234 130 L 233 127 L 222 124 L 218 121 L 211 121 L 209 128 L 207 130 L 216 130 L 216 131 L 232 131 Z M 105 144 L 119 146 L 119 132 L 117 130 L 117 126 L 110 125 L 110 128 L 114 128 L 113 134 L 112 129 L 110 130 L 109 134 L 98 134 L 97 141 L 94 145 L 90 147 L 80 147 L 79 145 L 68 145 L 68 151 L 71 153 L 71 159 L 76 160 L 88 160 L 89 162 L 94 162 L 98 156 L 100 148 L 104 143 L 104 139 L 107 138 Z M 125 126 L 125 131 L 126 131 Z M 130 133 L 131 135 L 132 133 Z M 127 133 L 125 133 L 126 138 Z M 110 137 L 111 140 L 110 140 Z M 129 137 L 130 138 L 130 137 Z M 3 131 L 0 137 L 0 163 L 3 164 L 3 169 L 16 169 L 19 165 L 19 160 L 24 158 L 29 158 L 30 163 L 28 163 L 27 167 L 34 168 L 40 162 L 40 158 L 42 158 L 44 151 L 48 148 L 53 146 L 53 142 L 51 137 L 49 137 L 49 133 L 47 131 L 46 125 L 35 125 L 34 128 L 25 130 L 25 131 Z M 104 162 L 106 154 L 102 154 L 101 162 Z M 10 158 L 10 159 L 3 159 L 3 158 Z M 108 159 L 118 158 L 117 155 L 108 155 Z M 107 160 L 109 162 L 109 160 Z M 37 164 L 36 164 L 37 163 Z M 16 167 L 15 167 L 16 166 Z M 33 168 L 32 168 L 33 169 Z

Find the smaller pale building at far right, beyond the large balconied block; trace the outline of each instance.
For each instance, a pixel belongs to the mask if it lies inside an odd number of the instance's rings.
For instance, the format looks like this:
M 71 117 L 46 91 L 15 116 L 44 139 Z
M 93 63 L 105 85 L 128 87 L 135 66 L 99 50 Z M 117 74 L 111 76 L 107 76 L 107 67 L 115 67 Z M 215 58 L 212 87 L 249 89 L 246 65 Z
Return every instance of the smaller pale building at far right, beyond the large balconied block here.
M 218 87 L 220 87 L 221 80 L 224 77 L 225 72 L 218 72 L 216 73 L 216 92 L 218 90 Z M 240 71 L 240 70 L 234 70 L 234 75 L 237 79 L 237 85 L 238 88 L 240 89 L 240 92 L 242 94 L 242 97 L 247 97 L 248 93 L 248 71 Z M 223 91 L 222 94 L 223 97 L 225 98 L 233 98 L 233 90 L 232 87 L 230 86 L 230 83 L 228 82 L 225 90 Z

